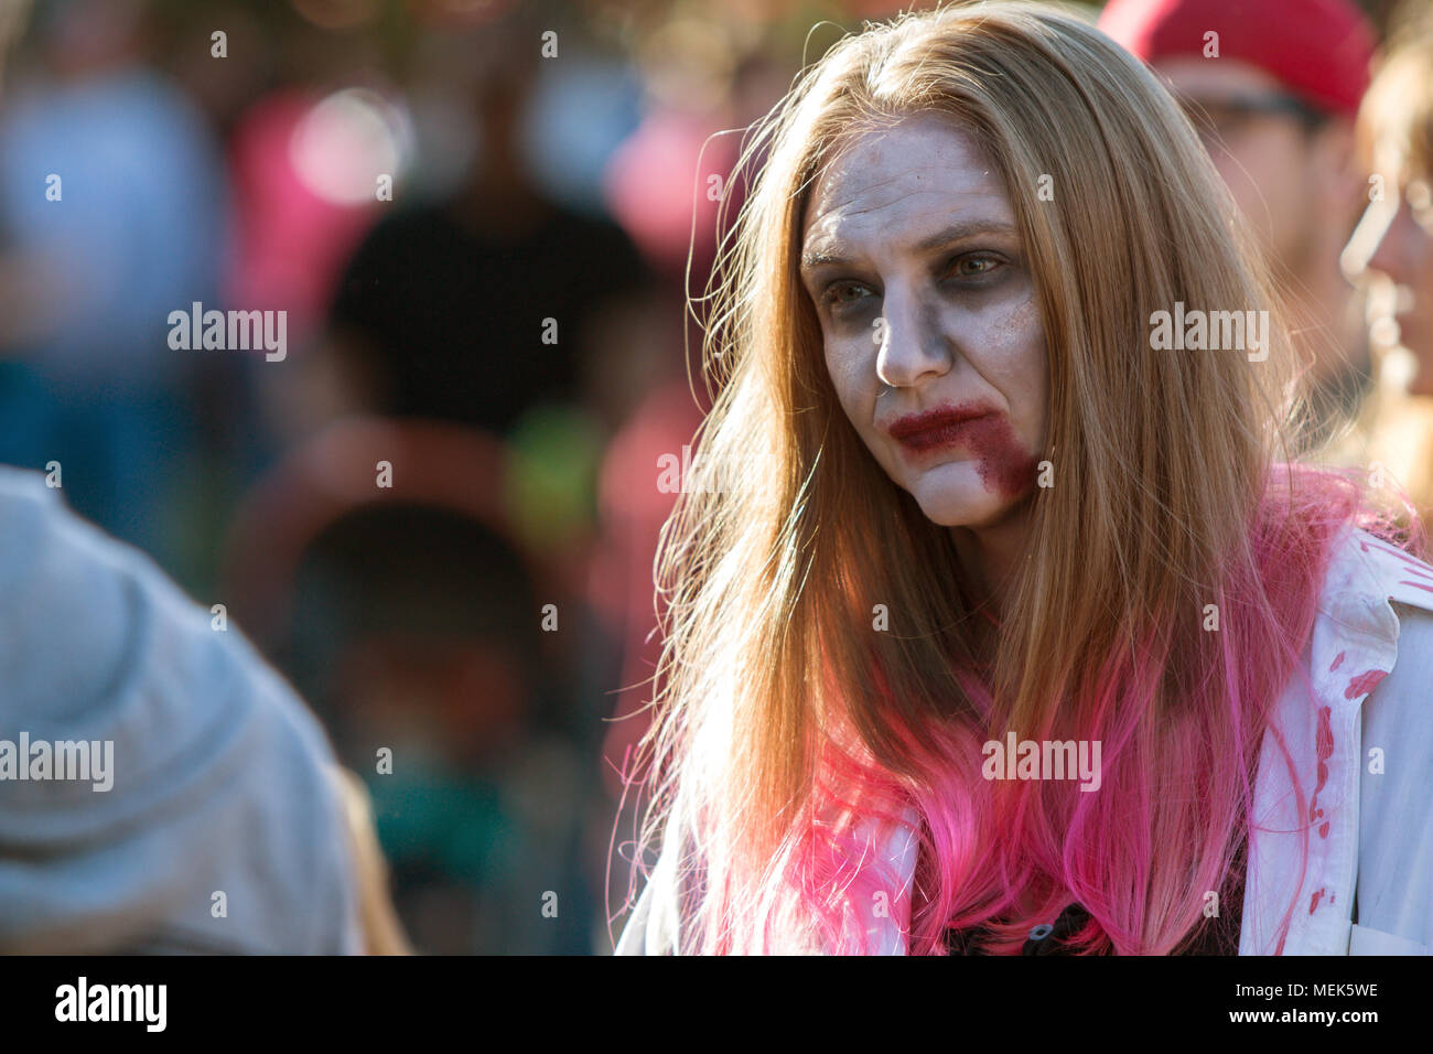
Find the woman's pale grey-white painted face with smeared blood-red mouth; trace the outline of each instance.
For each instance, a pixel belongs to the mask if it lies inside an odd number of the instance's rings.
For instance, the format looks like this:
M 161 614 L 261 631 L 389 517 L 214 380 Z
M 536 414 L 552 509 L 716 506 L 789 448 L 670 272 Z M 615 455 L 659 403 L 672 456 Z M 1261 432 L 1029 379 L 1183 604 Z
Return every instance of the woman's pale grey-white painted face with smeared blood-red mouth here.
M 837 397 L 944 526 L 1000 523 L 1045 445 L 1035 283 L 995 166 L 949 118 L 858 135 L 820 175 L 801 277 Z

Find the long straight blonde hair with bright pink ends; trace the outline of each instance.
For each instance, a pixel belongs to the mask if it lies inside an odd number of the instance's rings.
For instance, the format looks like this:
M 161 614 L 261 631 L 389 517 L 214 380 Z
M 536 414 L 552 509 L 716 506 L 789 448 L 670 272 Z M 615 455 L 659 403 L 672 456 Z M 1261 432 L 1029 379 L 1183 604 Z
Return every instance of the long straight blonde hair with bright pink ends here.
M 927 110 L 1003 178 L 1048 340 L 1053 486 L 997 631 L 952 532 L 843 414 L 798 275 L 823 163 Z M 1070 901 L 1080 951 L 1182 948 L 1241 866 L 1330 546 L 1381 526 L 1356 480 L 1278 456 L 1297 400 L 1277 321 L 1264 361 L 1151 346 L 1176 303 L 1277 318 L 1232 201 L 1155 79 L 1046 6 L 843 39 L 758 122 L 758 158 L 712 285 L 714 410 L 659 552 L 636 866 L 671 855 L 678 951 L 868 951 L 858 901 L 901 895 L 871 825 L 909 809 L 910 951 L 973 926 L 1015 951 Z M 1009 731 L 1099 740 L 1102 787 L 983 779 Z

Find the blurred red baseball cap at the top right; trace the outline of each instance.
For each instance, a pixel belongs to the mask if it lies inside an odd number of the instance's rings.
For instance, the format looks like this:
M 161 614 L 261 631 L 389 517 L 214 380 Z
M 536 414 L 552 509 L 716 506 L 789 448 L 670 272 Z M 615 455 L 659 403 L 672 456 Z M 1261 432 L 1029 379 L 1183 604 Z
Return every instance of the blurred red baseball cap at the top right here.
M 1258 66 L 1311 106 L 1353 118 L 1376 37 L 1348 0 L 1109 0 L 1099 29 L 1145 62 L 1204 54 Z M 1209 59 L 1218 62 L 1218 59 Z

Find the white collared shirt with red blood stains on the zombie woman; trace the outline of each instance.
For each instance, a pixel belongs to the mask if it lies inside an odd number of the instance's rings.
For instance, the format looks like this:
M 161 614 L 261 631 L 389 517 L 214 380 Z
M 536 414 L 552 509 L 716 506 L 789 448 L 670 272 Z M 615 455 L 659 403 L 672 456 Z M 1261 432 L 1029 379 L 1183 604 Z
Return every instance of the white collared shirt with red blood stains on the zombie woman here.
M 1291 678 L 1271 723 L 1297 766 L 1304 816 L 1271 727 L 1254 784 L 1240 955 L 1426 955 L 1433 945 L 1433 568 L 1346 529 L 1303 671 L 1313 694 L 1303 677 Z M 890 955 L 906 954 L 916 869 L 919 817 L 907 810 L 904 820 L 893 830 L 870 827 L 904 895 L 894 898 L 890 918 L 853 905 L 871 946 Z M 1308 865 L 1283 934 L 1300 879 L 1301 825 Z M 675 863 L 663 852 L 616 954 L 669 954 L 678 926 Z

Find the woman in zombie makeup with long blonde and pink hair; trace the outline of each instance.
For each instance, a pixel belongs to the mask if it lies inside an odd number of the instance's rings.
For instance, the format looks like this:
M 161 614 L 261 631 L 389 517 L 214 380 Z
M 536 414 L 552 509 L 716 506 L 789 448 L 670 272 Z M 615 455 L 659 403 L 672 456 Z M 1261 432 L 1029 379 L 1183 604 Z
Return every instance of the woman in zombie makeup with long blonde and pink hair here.
M 1168 93 L 1076 17 L 946 9 L 747 146 L 618 951 L 1424 949 L 1433 568 L 1290 456 Z M 1265 347 L 1197 338 L 1250 311 Z

